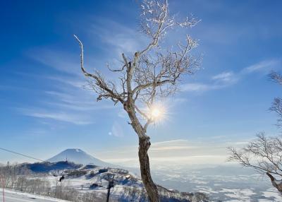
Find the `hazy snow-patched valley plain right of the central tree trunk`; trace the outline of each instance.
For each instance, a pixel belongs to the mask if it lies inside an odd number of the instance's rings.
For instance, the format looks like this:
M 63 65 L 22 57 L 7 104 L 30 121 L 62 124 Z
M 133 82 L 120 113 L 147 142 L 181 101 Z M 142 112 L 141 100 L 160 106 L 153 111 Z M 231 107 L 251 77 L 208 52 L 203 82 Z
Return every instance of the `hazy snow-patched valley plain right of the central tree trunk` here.
M 154 180 L 168 189 L 200 191 L 212 201 L 282 202 L 282 196 L 267 176 L 241 167 L 168 167 L 153 171 Z

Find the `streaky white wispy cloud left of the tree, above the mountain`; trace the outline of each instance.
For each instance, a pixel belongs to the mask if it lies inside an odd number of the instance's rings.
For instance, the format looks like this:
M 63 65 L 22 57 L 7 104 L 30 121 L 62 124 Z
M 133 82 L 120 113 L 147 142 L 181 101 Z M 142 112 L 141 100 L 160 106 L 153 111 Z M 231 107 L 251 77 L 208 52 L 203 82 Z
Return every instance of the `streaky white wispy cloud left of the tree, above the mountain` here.
M 56 120 L 85 125 L 93 123 L 92 119 L 90 119 L 93 110 L 113 108 L 110 103 L 95 102 L 96 95 L 84 90 L 78 83 L 74 85 L 68 82 L 66 78 L 61 79 L 66 81 L 65 85 L 56 85 L 55 89 L 44 91 L 44 99 L 33 103 L 34 108 L 17 108 L 18 112 L 30 117 L 46 119 L 46 121 Z

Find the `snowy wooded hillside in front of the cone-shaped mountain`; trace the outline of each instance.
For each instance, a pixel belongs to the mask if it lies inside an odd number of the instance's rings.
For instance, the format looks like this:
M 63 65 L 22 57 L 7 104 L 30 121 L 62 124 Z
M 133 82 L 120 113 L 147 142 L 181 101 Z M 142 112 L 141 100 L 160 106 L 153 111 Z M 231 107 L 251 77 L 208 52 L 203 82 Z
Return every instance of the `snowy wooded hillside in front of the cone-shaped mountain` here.
M 110 196 L 112 202 L 148 201 L 141 179 L 121 168 L 75 165 L 73 162 L 61 161 L 24 163 L 3 169 L 7 173 L 6 187 L 26 193 L 68 201 L 104 202 L 111 181 L 114 184 Z M 189 202 L 193 196 L 188 192 L 157 186 L 162 201 Z

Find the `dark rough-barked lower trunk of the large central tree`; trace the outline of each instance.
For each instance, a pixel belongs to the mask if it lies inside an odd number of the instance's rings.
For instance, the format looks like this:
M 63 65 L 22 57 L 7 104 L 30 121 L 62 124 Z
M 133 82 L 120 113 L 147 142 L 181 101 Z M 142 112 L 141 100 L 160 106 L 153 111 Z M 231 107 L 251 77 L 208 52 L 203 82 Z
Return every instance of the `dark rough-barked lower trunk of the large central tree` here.
M 139 162 L 140 162 L 140 172 L 142 177 L 142 182 L 147 191 L 149 201 L 159 202 L 159 194 L 156 184 L 154 184 L 151 172 L 149 168 L 149 156 L 147 151 L 149 150 L 151 143 L 148 136 L 139 137 Z

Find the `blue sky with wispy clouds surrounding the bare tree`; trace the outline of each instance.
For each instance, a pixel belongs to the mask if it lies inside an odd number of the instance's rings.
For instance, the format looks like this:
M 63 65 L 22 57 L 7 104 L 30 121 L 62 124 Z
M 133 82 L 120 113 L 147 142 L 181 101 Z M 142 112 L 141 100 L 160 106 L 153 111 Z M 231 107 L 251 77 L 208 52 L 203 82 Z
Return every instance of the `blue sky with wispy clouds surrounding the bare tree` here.
M 6 1 L 0 6 L 0 147 L 47 159 L 81 148 L 111 162 L 136 162 L 137 136 L 113 103 L 85 90 L 79 47 L 88 70 L 105 76 L 106 62 L 146 40 L 135 1 Z M 267 78 L 282 67 L 281 1 L 171 1 L 172 13 L 201 22 L 202 69 L 166 100 L 167 119 L 151 126 L 152 160 L 220 163 L 226 146 L 259 131 L 277 133 L 267 109 L 281 90 Z M 183 30 L 174 30 L 178 39 Z M 194 157 L 194 159 L 191 159 Z M 196 160 L 197 159 L 197 160 Z M 0 162 L 28 161 L 0 151 Z

